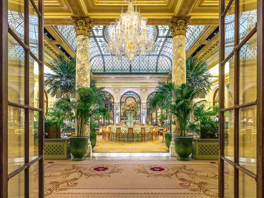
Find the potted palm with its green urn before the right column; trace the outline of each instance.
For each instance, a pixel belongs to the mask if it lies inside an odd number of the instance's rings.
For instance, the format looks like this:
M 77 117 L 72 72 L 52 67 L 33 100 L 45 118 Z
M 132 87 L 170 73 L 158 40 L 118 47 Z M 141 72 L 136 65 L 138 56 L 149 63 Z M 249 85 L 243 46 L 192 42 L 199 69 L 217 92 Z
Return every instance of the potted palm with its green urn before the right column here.
M 175 85 L 173 82 L 163 84 L 164 92 L 167 93 L 167 104 L 164 104 L 163 108 L 169 111 L 171 116 L 171 123 L 178 126 L 174 136 L 174 148 L 175 153 L 178 155 L 178 160 L 189 161 L 189 155 L 192 153 L 192 139 L 193 137 L 186 136 L 186 128 L 190 121 L 190 114 L 193 110 L 193 106 L 203 101 L 199 101 L 193 104 L 193 99 L 199 93 L 200 89 L 194 91 L 190 89 L 187 83 L 181 85 Z M 157 94 L 153 103 L 154 105 L 164 100 L 165 95 Z M 169 99 L 170 100 L 169 100 Z

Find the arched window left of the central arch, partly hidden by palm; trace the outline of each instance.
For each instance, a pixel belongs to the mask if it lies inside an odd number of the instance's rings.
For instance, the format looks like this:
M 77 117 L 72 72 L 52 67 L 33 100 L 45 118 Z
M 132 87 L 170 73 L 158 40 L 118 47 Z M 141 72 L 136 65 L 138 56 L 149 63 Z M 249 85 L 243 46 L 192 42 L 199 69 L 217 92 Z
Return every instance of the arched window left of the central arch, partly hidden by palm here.
M 109 94 L 108 92 L 105 93 L 105 101 L 104 101 L 104 107 L 107 108 L 110 112 L 111 117 L 108 120 L 102 120 L 102 118 L 98 118 L 98 125 L 110 125 L 114 124 L 114 97 Z

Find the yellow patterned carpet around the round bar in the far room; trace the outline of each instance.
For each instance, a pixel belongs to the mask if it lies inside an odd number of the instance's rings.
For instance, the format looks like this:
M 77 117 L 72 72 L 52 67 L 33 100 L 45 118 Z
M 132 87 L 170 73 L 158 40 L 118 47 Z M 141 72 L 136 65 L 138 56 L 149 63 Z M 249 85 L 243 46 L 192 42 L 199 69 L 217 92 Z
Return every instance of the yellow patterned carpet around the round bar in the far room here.
M 119 142 L 102 140 L 102 136 L 97 136 L 93 153 L 168 153 L 167 146 L 162 142 L 162 136 L 157 141 L 146 142 Z

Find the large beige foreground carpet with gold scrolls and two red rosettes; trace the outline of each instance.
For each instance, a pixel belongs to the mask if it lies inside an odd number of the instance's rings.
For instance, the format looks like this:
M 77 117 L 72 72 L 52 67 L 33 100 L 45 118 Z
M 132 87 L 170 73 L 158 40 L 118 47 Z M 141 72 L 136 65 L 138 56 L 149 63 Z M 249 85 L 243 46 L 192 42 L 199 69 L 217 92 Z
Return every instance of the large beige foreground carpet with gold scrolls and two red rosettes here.
M 217 160 L 148 159 L 45 160 L 45 197 L 218 197 Z

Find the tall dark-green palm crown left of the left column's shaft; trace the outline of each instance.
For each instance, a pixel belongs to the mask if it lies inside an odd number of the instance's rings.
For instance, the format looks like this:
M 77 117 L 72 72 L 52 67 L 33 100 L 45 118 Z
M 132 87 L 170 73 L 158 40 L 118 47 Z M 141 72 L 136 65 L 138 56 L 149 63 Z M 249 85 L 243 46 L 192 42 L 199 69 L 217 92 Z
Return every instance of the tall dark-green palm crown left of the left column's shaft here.
M 52 97 L 56 92 L 70 96 L 72 90 L 75 90 L 76 77 L 76 57 L 67 60 L 63 54 L 56 55 L 53 61 L 46 63 L 55 74 L 45 73 L 44 86 L 47 87 L 47 94 Z

